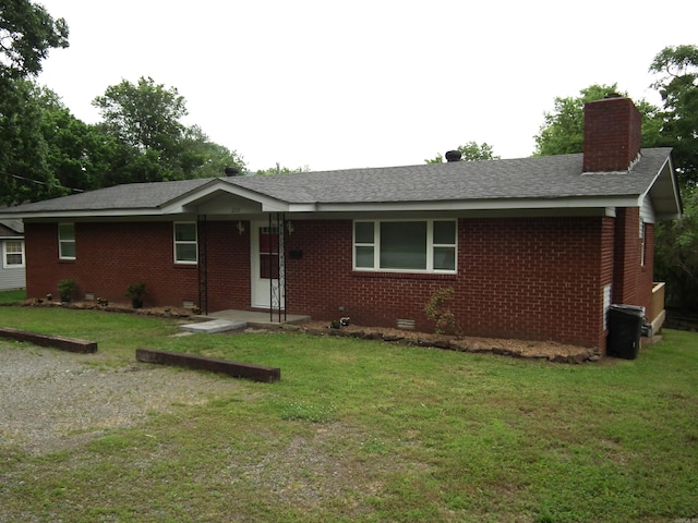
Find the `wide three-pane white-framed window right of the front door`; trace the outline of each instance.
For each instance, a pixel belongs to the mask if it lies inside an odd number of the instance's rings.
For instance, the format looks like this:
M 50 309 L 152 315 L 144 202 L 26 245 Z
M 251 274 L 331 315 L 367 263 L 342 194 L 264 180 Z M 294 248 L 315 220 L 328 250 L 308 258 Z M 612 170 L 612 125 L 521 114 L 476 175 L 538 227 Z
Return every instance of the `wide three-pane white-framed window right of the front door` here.
M 456 272 L 456 220 L 354 221 L 354 270 Z

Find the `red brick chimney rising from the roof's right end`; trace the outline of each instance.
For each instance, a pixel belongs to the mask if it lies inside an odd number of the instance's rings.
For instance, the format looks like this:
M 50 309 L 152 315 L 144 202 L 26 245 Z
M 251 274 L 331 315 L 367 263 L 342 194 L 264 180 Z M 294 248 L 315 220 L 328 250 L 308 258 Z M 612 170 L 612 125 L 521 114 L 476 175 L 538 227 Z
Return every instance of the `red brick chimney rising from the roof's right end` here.
M 585 172 L 626 171 L 640 154 L 642 118 L 633 100 L 607 95 L 585 105 Z

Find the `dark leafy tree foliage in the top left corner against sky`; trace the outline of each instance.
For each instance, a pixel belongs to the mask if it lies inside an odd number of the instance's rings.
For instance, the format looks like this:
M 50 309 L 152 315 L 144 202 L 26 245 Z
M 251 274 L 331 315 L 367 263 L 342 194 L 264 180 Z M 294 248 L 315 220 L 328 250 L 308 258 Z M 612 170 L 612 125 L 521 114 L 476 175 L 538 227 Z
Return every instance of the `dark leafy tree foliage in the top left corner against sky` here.
M 36 75 L 52 48 L 68 47 L 65 20 L 53 20 L 28 0 L 4 0 L 0 9 L 0 84 Z

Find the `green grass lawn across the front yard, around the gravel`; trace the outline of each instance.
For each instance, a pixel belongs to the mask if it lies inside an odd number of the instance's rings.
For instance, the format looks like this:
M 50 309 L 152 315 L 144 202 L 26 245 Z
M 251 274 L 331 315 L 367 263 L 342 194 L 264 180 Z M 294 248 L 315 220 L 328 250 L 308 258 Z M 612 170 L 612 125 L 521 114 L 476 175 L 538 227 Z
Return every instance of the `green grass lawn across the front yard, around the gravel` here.
M 148 346 L 281 368 L 70 451 L 0 440 L 2 522 L 698 518 L 696 333 L 574 366 L 298 333 L 170 338 L 170 320 L 61 308 L 1 307 L 0 326 L 98 341 L 108 367 Z

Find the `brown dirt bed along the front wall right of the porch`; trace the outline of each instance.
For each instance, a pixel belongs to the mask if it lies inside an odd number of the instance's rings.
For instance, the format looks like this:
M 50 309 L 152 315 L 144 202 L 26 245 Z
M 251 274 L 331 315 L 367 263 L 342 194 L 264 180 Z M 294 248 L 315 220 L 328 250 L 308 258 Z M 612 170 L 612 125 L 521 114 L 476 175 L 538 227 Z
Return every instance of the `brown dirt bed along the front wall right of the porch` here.
M 356 337 L 418 346 L 434 346 L 460 352 L 490 352 L 514 357 L 547 360 L 556 363 L 598 362 L 601 355 L 595 349 L 556 343 L 554 341 L 525 341 L 498 338 L 474 338 L 418 332 L 388 327 L 348 325 L 329 328 L 326 321 L 308 321 L 298 327 L 310 335 Z

